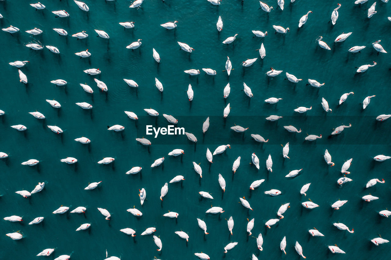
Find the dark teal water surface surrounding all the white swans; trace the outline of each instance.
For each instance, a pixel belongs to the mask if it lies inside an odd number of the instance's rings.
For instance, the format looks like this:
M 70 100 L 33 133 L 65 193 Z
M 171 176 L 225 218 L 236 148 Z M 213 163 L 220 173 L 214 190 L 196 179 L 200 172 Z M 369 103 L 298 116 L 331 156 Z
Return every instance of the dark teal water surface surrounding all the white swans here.
M 72 259 L 104 259 L 106 249 L 109 255 L 122 259 L 195 259 L 194 253 L 207 253 L 211 259 L 250 259 L 255 253 L 259 259 L 299 259 L 294 249 L 296 240 L 303 247 L 308 259 L 373 259 L 389 257 L 390 244 L 375 246 L 370 239 L 382 235 L 391 238 L 389 221 L 378 212 L 391 207 L 389 197 L 390 163 L 375 162 L 378 154 L 390 155 L 391 119 L 378 122 L 376 116 L 390 114 L 389 109 L 389 54 L 377 55 L 371 43 L 381 39 L 382 46 L 391 50 L 389 44 L 390 22 L 389 4 L 377 1 L 377 14 L 367 18 L 367 10 L 373 1 L 361 6 L 351 1 L 340 1 L 337 24 L 332 27 L 330 15 L 337 2 L 296 0 L 285 1 L 285 9 L 276 8 L 276 1 L 269 1 L 274 10 L 269 14 L 259 9 L 258 1 L 223 1 L 220 6 L 209 4 L 206 0 L 178 1 L 145 0 L 142 8 L 129 9 L 129 2 L 86 1 L 89 12 L 80 10 L 73 1 L 45 1 L 46 9 L 35 11 L 29 1 L 1 1 L 0 19 L 2 28 L 14 25 L 20 32 L 9 35 L 0 32 L 2 54 L 0 55 L 1 87 L 0 109 L 0 151 L 9 154 L 0 160 L 0 212 L 1 217 L 23 216 L 22 223 L 0 221 L 0 258 L 34 259 L 45 248 L 56 248 L 49 256 L 71 254 Z M 65 9 L 68 18 L 55 18 L 50 11 Z M 307 11 L 307 23 L 298 30 L 298 20 Z M 219 15 L 224 28 L 218 33 L 215 23 Z M 160 24 L 178 21 L 174 30 L 165 30 Z M 127 29 L 119 22 L 134 21 L 136 27 Z M 274 34 L 272 25 L 290 27 L 289 33 Z M 25 30 L 38 27 L 43 34 L 30 36 Z M 68 36 L 59 36 L 52 28 L 64 28 Z M 110 39 L 96 37 L 93 29 L 106 31 Z M 89 37 L 77 40 L 70 35 L 86 30 Z M 265 38 L 253 38 L 251 30 L 268 31 Z M 333 43 L 343 32 L 353 32 L 342 43 Z M 238 33 L 235 42 L 223 46 L 221 42 Z M 316 42 L 323 36 L 331 51 L 321 49 Z M 143 39 L 142 46 L 135 51 L 125 46 L 137 39 Z M 59 48 L 57 55 L 46 48 L 33 51 L 24 45 L 39 41 L 43 45 Z M 187 53 L 179 50 L 177 41 L 187 43 L 195 50 Z M 266 48 L 266 57 L 258 59 L 253 66 L 244 68 L 241 62 L 259 57 L 261 43 Z M 366 45 L 361 53 L 349 53 L 355 45 Z M 91 57 L 79 59 L 75 52 L 88 50 Z M 152 48 L 161 57 L 157 64 L 152 58 Z M 224 69 L 226 56 L 229 56 L 234 70 L 230 77 Z M 19 82 L 18 69 L 8 62 L 28 60 L 22 68 L 29 84 Z M 355 74 L 355 67 L 377 62 L 365 73 Z M 283 70 L 275 78 L 265 75 L 270 67 Z M 102 73 L 88 76 L 83 70 L 99 68 Z M 201 73 L 188 77 L 185 69 L 213 68 L 217 75 L 212 77 Z M 303 78 L 293 84 L 284 80 L 285 72 Z M 105 82 L 108 92 L 102 93 L 93 78 Z M 157 77 L 163 84 L 161 94 L 154 86 Z M 122 79 L 135 80 L 139 88 L 129 87 Z M 321 89 L 306 86 L 308 78 L 326 84 Z M 65 87 L 56 87 L 50 80 L 64 79 Z M 224 86 L 230 82 L 231 94 L 227 100 L 222 98 Z M 251 87 L 254 97 L 249 102 L 243 89 L 243 82 Z M 83 91 L 79 83 L 90 85 L 94 93 Z M 186 90 L 188 84 L 194 89 L 194 99 L 190 103 Z M 339 97 L 353 91 L 354 96 L 341 106 Z M 366 96 L 376 95 L 369 106 L 362 110 L 360 104 Z M 269 97 L 281 97 L 278 104 L 266 105 Z M 321 107 L 324 97 L 333 112 L 326 114 Z M 56 99 L 60 109 L 52 108 L 45 99 Z M 83 110 L 75 102 L 88 102 L 92 110 Z M 230 103 L 231 112 L 224 121 L 222 111 Z M 310 107 L 306 114 L 293 111 L 297 106 Z M 156 109 L 160 116 L 146 116 L 144 108 Z M 28 112 L 38 110 L 46 116 L 38 120 Z M 127 118 L 124 110 L 135 112 L 140 119 L 135 122 Z M 145 135 L 145 125 L 167 126 L 161 114 L 172 114 L 178 118 L 178 126 L 184 126 L 198 138 L 196 145 L 185 136 L 159 136 L 154 139 Z M 264 118 L 281 115 L 279 121 L 269 122 Z M 211 126 L 203 136 L 202 123 L 211 117 Z M 328 139 L 332 129 L 341 124 L 352 123 L 337 137 Z M 23 124 L 24 132 L 9 126 Z M 122 132 L 108 131 L 106 126 L 120 124 Z M 244 134 L 230 130 L 234 124 L 249 127 Z M 293 134 L 283 129 L 284 125 L 300 127 L 303 132 Z M 46 125 L 61 127 L 63 134 L 51 132 Z M 322 134 L 315 142 L 304 142 L 308 134 Z M 250 134 L 260 134 L 268 143 L 253 141 Z M 91 139 L 90 144 L 81 144 L 74 139 L 81 136 Z M 136 137 L 147 137 L 152 146 L 142 146 Z M 280 144 L 290 142 L 290 160 L 282 157 Z M 210 165 L 206 160 L 206 148 L 213 150 L 221 144 L 231 144 L 222 155 L 213 158 Z M 169 157 L 171 150 L 181 148 L 185 154 Z M 328 167 L 323 159 L 325 149 L 332 155 L 334 167 Z M 260 170 L 249 164 L 251 154 L 260 158 Z M 268 173 L 265 160 L 269 153 L 273 158 L 273 173 Z M 163 165 L 151 169 L 152 162 L 165 157 Z M 232 175 L 232 163 L 241 156 L 241 165 Z M 75 157 L 77 164 L 68 165 L 59 160 Z M 99 165 L 102 157 L 114 157 L 115 162 Z M 40 161 L 37 166 L 23 166 L 20 163 L 30 158 Z M 353 158 L 348 176 L 353 182 L 338 187 L 337 179 L 342 175 L 341 166 L 345 160 Z M 203 178 L 200 180 L 193 169 L 192 162 L 201 163 Z M 137 175 L 125 175 L 133 166 L 143 170 Z M 300 175 L 287 179 L 284 176 L 293 169 L 301 169 Z M 226 180 L 226 191 L 222 193 L 217 178 L 219 173 Z M 160 189 L 174 176 L 183 175 L 182 183 L 169 184 L 169 192 L 161 203 Z M 250 192 L 248 187 L 254 180 L 266 181 Z M 384 178 L 386 183 L 378 183 L 365 189 L 372 178 Z M 102 181 L 99 187 L 85 191 L 89 182 Z M 14 193 L 26 189 L 32 191 L 38 182 L 45 182 L 43 191 L 23 198 Z M 300 195 L 300 188 L 311 182 L 307 197 Z M 147 199 L 140 206 L 138 189 L 144 187 Z M 264 191 L 279 189 L 282 195 L 270 197 Z M 215 198 L 213 201 L 200 198 L 198 192 L 207 191 Z M 371 193 L 380 199 L 365 202 L 362 196 Z M 254 211 L 242 207 L 239 197 L 246 196 Z M 320 207 L 307 210 L 301 202 L 311 199 Z M 337 199 L 349 202 L 340 210 L 330 205 Z M 281 204 L 291 203 L 284 214 L 285 218 L 272 226 L 265 227 L 265 221 L 276 218 Z M 213 206 L 222 207 L 221 215 L 207 215 L 204 212 Z M 84 206 L 86 214 L 61 214 L 52 212 L 65 205 L 73 210 Z M 136 218 L 126 209 L 136 206 L 143 216 Z M 111 219 L 106 221 L 97 207 L 107 208 Z M 69 210 L 69 211 L 70 211 Z M 168 211 L 179 213 L 178 219 L 162 217 Z M 40 224 L 28 225 L 38 216 L 45 217 Z M 235 226 L 233 236 L 227 227 L 233 216 Z M 209 235 L 197 225 L 196 218 L 204 219 Z M 264 236 L 264 250 L 256 248 L 254 237 L 246 233 L 247 218 L 255 218 L 253 235 Z M 337 230 L 332 223 L 341 222 L 354 233 Z M 91 228 L 76 232 L 83 223 L 91 223 Z M 155 235 L 163 242 L 161 252 L 156 251 L 152 236 L 140 236 L 145 228 L 156 227 Z M 136 237 L 120 232 L 122 228 L 133 228 Z M 312 237 L 308 229 L 316 227 L 325 237 Z M 11 240 L 5 233 L 20 230 L 21 240 Z M 179 238 L 174 232 L 183 230 L 190 236 L 189 242 Z M 287 256 L 280 251 L 280 240 L 287 237 Z M 229 242 L 239 244 L 227 254 L 222 253 Z M 347 255 L 332 255 L 327 246 L 337 244 Z

